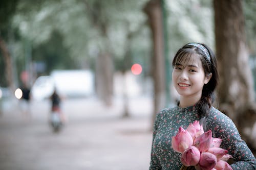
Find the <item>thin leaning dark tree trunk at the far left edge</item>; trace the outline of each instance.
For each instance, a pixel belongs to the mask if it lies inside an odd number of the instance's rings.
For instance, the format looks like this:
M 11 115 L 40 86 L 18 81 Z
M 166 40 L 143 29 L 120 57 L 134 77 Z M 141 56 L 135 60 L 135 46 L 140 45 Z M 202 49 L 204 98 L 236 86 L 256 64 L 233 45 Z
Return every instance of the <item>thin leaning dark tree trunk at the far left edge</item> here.
M 13 83 L 13 70 L 12 70 L 12 60 L 8 48 L 6 46 L 5 41 L 0 36 L 0 50 L 2 51 L 2 55 L 4 57 L 5 62 L 5 72 L 6 72 L 6 80 L 9 88 L 14 91 L 14 83 Z

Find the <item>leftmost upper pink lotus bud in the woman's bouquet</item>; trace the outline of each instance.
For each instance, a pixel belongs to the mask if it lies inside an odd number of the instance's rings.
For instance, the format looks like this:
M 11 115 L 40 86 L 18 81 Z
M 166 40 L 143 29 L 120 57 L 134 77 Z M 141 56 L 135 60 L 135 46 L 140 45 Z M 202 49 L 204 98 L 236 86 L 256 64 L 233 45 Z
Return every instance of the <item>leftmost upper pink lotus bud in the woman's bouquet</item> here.
M 193 138 L 186 130 L 180 127 L 176 136 L 172 138 L 172 148 L 176 152 L 183 153 L 191 145 L 193 145 Z

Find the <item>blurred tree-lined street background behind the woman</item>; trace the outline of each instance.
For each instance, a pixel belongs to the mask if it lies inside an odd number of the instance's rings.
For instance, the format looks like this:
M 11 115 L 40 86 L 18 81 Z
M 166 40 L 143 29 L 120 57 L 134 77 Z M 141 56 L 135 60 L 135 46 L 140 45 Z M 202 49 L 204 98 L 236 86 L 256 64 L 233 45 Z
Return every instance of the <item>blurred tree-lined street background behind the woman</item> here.
M 147 169 L 188 42 L 216 53 L 215 106 L 255 154 L 255 11 L 253 0 L 1 1 L 0 169 Z M 58 133 L 54 90 L 67 119 Z

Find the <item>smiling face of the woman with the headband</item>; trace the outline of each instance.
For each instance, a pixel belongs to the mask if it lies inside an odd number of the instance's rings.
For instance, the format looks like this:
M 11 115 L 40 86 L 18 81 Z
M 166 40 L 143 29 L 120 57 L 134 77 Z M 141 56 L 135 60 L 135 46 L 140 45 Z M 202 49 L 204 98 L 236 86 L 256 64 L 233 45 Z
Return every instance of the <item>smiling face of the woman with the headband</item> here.
M 192 56 L 189 61 L 181 60 L 176 63 L 173 74 L 173 83 L 181 98 L 200 100 L 204 84 L 208 83 L 199 55 Z

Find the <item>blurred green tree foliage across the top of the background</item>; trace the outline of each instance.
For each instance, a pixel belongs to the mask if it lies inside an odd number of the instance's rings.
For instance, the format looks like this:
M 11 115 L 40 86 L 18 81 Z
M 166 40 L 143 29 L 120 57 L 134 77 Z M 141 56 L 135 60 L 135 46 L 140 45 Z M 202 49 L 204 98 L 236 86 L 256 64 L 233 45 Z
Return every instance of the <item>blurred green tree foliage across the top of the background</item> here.
M 129 66 L 124 66 L 124 59 L 130 65 L 142 62 L 149 70 L 152 39 L 146 15 L 142 11 L 147 2 L 148 0 L 3 1 L 0 3 L 0 23 L 3 27 L 2 20 L 3 23 L 8 23 L 8 27 L 5 27 L 8 29 L 2 29 L 1 35 L 6 36 L 8 45 L 12 39 L 12 55 L 18 71 L 25 68 L 25 40 L 31 44 L 32 60 L 45 62 L 47 72 L 56 68 L 82 68 L 84 65 L 93 68 L 95 57 L 104 51 L 114 57 L 117 70 L 130 69 Z M 212 1 L 164 2 L 170 60 L 178 48 L 187 42 L 203 42 L 214 49 Z M 255 54 L 256 3 L 245 0 L 243 4 L 248 42 Z M 10 31 L 13 38 L 8 37 Z M 0 66 L 3 68 L 2 60 Z

